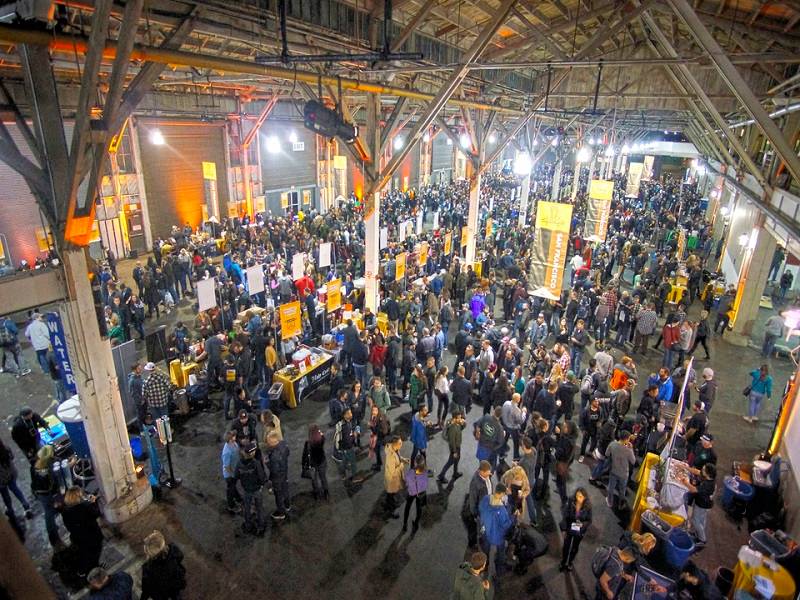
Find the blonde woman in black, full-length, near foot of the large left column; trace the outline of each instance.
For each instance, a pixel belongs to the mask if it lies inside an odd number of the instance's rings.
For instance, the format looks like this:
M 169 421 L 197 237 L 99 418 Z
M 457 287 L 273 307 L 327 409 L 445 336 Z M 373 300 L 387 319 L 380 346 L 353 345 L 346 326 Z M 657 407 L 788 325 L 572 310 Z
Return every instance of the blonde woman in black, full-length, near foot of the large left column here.
M 61 519 L 69 531 L 70 545 L 75 550 L 79 577 L 86 577 L 89 571 L 100 564 L 104 538 L 97 523 L 99 516 L 96 496 L 84 494 L 77 485 L 65 492 Z

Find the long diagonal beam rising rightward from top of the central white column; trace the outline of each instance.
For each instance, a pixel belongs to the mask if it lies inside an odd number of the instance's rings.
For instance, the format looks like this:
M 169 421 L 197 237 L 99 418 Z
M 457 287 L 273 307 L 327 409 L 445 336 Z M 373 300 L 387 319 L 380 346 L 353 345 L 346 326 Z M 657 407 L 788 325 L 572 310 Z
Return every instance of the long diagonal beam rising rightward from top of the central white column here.
M 508 13 L 511 11 L 511 7 L 514 6 L 516 1 L 517 0 L 503 0 L 500 3 L 500 6 L 495 11 L 493 17 L 489 19 L 489 21 L 483 26 L 483 29 L 478 37 L 472 42 L 469 49 L 464 53 L 464 62 L 466 65 L 469 65 L 469 63 L 475 61 L 486 49 L 486 46 L 489 45 L 489 42 L 491 41 L 492 37 L 494 37 L 494 34 L 508 17 Z M 389 182 L 394 172 L 403 162 L 403 159 L 405 159 L 411 149 L 420 140 L 423 132 L 428 128 L 428 126 L 430 126 L 439 112 L 447 104 L 447 101 L 450 99 L 450 97 L 459 88 L 464 79 L 466 79 L 467 75 L 469 74 L 469 69 L 466 68 L 466 65 L 465 67 L 453 71 L 447 82 L 436 94 L 436 97 L 431 100 L 425 110 L 425 113 L 420 117 L 419 121 L 417 121 L 416 125 L 411 130 L 411 134 L 409 135 L 409 139 L 407 140 L 406 144 L 399 152 L 397 152 L 397 154 L 392 156 L 386 167 L 381 170 L 377 181 L 370 187 L 368 191 L 369 194 L 380 191 L 383 186 Z

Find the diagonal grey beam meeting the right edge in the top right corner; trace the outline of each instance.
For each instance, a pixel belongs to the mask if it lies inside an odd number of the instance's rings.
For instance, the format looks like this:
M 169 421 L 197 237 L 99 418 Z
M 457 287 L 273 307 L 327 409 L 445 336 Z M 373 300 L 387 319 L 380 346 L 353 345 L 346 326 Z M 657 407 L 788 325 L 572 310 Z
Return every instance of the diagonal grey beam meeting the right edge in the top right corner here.
M 731 91 L 739 98 L 739 101 L 744 106 L 745 110 L 758 124 L 758 127 L 772 143 L 775 151 L 780 158 L 786 163 L 786 168 L 794 177 L 794 180 L 800 182 L 800 158 L 797 157 L 794 148 L 786 140 L 775 122 L 770 118 L 769 114 L 761 103 L 756 98 L 756 95 L 750 89 L 750 86 L 741 76 L 736 67 L 725 56 L 725 52 L 714 39 L 714 37 L 706 29 L 705 25 L 700 21 L 694 9 L 689 5 L 686 0 L 668 0 L 675 13 L 683 21 L 684 25 L 692 32 L 697 43 L 703 48 L 711 57 L 711 60 L 717 66 L 719 74 L 722 76 L 725 83 Z M 738 140 L 737 140 L 738 141 Z

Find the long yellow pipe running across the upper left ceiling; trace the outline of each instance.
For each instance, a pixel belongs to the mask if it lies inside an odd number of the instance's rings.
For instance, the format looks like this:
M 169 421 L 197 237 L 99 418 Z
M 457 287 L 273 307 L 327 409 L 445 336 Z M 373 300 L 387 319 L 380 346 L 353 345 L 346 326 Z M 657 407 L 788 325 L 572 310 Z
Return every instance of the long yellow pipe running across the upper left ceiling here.
M 33 44 L 38 46 L 48 46 L 51 50 L 68 52 L 70 54 L 77 53 L 85 55 L 88 49 L 88 40 L 82 36 L 71 36 L 47 31 L 21 29 L 18 27 L 12 27 L 10 25 L 0 25 L 0 41 L 11 44 Z M 116 47 L 117 45 L 114 41 L 107 41 L 105 48 L 103 49 L 103 57 L 107 60 L 113 59 L 117 53 Z M 152 46 L 144 46 L 139 44 L 134 46 L 133 52 L 131 53 L 131 60 L 149 61 L 159 64 L 179 65 L 185 67 L 197 67 L 201 69 L 213 69 L 223 73 L 248 73 L 251 75 L 271 77 L 273 79 L 282 79 L 285 81 L 302 81 L 312 85 L 316 85 L 320 81 L 323 85 L 337 86 L 339 84 L 339 78 L 337 77 L 318 75 L 307 71 L 297 71 L 294 69 L 286 69 L 277 66 L 257 65 L 241 60 L 184 52 L 182 50 L 154 48 Z M 423 102 L 429 102 L 434 98 L 433 94 L 426 94 L 424 92 L 418 92 L 405 88 L 362 82 L 356 79 L 342 78 L 341 82 L 342 88 L 344 89 L 367 92 L 370 94 L 401 96 Z M 515 108 L 497 106 L 495 104 L 487 104 L 483 102 L 461 100 L 458 98 L 451 98 L 448 100 L 448 104 L 457 106 L 459 108 L 463 107 L 474 108 L 478 110 L 489 110 L 503 114 L 524 114 L 523 111 Z

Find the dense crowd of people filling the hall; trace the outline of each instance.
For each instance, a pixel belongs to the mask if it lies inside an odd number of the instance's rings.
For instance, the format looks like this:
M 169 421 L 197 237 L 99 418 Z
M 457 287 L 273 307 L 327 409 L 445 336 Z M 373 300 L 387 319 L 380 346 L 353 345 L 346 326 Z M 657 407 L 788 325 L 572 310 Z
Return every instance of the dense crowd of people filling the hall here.
M 175 356 L 192 354 L 202 361 L 209 390 L 221 392 L 219 409 L 227 423 L 221 452 L 226 505 L 232 514 L 243 514 L 247 533 L 260 536 L 267 527 L 265 487 L 274 495 L 273 520 L 282 521 L 292 511 L 292 467 L 279 407 L 265 409 L 260 393 L 298 344 L 312 343 L 340 325 L 344 342 L 327 388 L 330 423 L 308 425 L 302 477 L 310 480 L 315 498 L 325 502 L 329 460 L 344 484 L 352 486 L 363 480 L 359 463 L 367 459 L 370 469 L 384 474 L 386 518 L 400 519 L 402 509 L 406 532 L 413 511 L 415 532 L 424 518 L 429 478 L 452 484 L 463 474 L 459 468 L 477 464 L 467 472 L 469 493 L 462 511 L 474 552 L 458 570 L 455 598 L 489 598 L 509 566 L 524 568 L 531 545 L 526 533 L 540 525 L 542 503 L 550 502 L 551 476 L 562 517 L 560 566 L 572 570 L 592 527 L 593 509 L 586 489 L 570 489 L 571 472 L 589 469 L 589 481 L 605 485 L 608 506 L 623 509 L 633 468 L 645 453 L 660 453 L 670 437 L 661 411 L 682 394 L 689 407 L 681 425 L 684 457 L 692 468 L 684 482 L 693 498 L 689 528 L 702 546 L 717 480 L 710 414 L 718 382 L 711 367 L 697 366 L 701 357 L 695 351 L 702 346 L 705 359 L 711 359 L 708 342 L 722 335 L 730 320 L 734 292 L 727 290 L 721 299 L 704 293 L 712 270 L 708 265 L 715 263 L 720 247 L 695 190 L 669 178 L 642 184 L 638 197 L 631 198 L 624 194 L 625 178 L 615 176 L 607 237 L 584 239 L 583 184 L 572 201 L 569 276 L 558 299 L 529 293 L 534 228 L 517 226 L 516 182 L 496 174 L 485 178 L 481 190 L 475 264 L 466 264 L 459 252 L 467 218 L 466 183 L 394 191 L 382 200 L 381 220 L 389 239 L 381 250 L 383 330 L 377 315 L 365 307 L 358 285 L 364 275 L 365 231 L 363 207 L 355 197 L 324 215 L 259 214 L 253 221 L 244 217 L 211 224 L 205 231 L 173 227 L 168 239 L 156 242 L 153 255 L 136 264 L 133 286 L 117 277 L 109 256 L 94 272 L 103 321 L 116 342 L 132 339 L 131 330 L 141 339 L 154 313 L 156 318 L 161 310 L 169 314 L 182 299 L 194 303 L 196 282 L 216 280 L 218 305 L 198 311 L 193 323 L 179 321 L 168 346 Z M 562 201 L 571 200 L 567 195 Z M 421 231 L 400 231 L 420 213 L 426 223 Z M 436 228 L 431 227 L 434 213 Z M 487 219 L 492 224 L 488 231 Z M 680 244 L 679 228 L 691 244 Z M 452 243 L 445 252 L 448 233 Z M 332 243 L 331 265 L 320 268 L 324 242 Z M 424 262 L 420 242 L 427 243 Z M 221 261 L 215 256 L 220 248 Z M 304 271 L 295 278 L 291 266 L 297 253 L 305 253 Z M 400 253 L 407 253 L 406 273 L 397 279 Z M 266 290 L 250 294 L 245 272 L 258 264 Z M 680 269 L 685 269 L 687 291 L 675 298 L 670 280 Z M 361 309 L 363 328 L 352 320 L 339 323 L 336 314 L 321 309 L 315 292 L 334 278 L 343 281 L 344 301 Z M 275 307 L 290 300 L 301 301 L 303 333 L 282 339 Z M 254 306 L 267 310 L 257 314 L 249 310 Z M 663 359 L 651 373 L 637 359 L 654 348 Z M 48 365 L 44 350 L 43 370 Z M 5 367 L 5 356 L 3 362 Z M 752 377 L 749 422 L 757 420 L 763 399 L 772 393 L 766 365 Z M 135 365 L 128 385 L 143 422 L 169 413 L 172 386 L 156 365 Z M 19 427 L 15 424 L 19 436 L 14 440 L 33 461 L 32 474 L 46 473 L 42 452 L 49 446 L 24 441 L 25 435 L 35 438 L 39 424 L 38 415 L 26 414 L 20 415 Z M 401 435 L 406 426 L 408 455 Z M 462 454 L 465 429 L 477 441 L 474 459 Z M 427 453 L 437 431 L 448 448 L 441 465 L 432 464 Z M 8 491 L 20 494 L 7 481 L 0 489 L 13 510 Z M 48 532 L 55 529 L 57 537 L 55 513 L 48 508 L 54 494 L 46 484 L 42 481 L 41 494 L 50 499 L 42 506 Z M 91 499 L 79 502 L 91 504 Z M 29 510 L 24 503 L 23 508 Z M 85 521 L 93 518 L 89 508 L 84 512 Z M 64 523 L 69 529 L 66 518 Z M 85 542 L 91 560 L 81 572 L 95 586 L 109 577 L 89 573 L 96 566 L 93 543 Z M 623 537 L 596 574 L 599 598 L 617 597 L 650 543 L 638 534 Z M 690 564 L 679 587 L 694 590 L 688 597 L 709 597 L 702 596 L 710 593 L 707 583 L 707 576 Z

